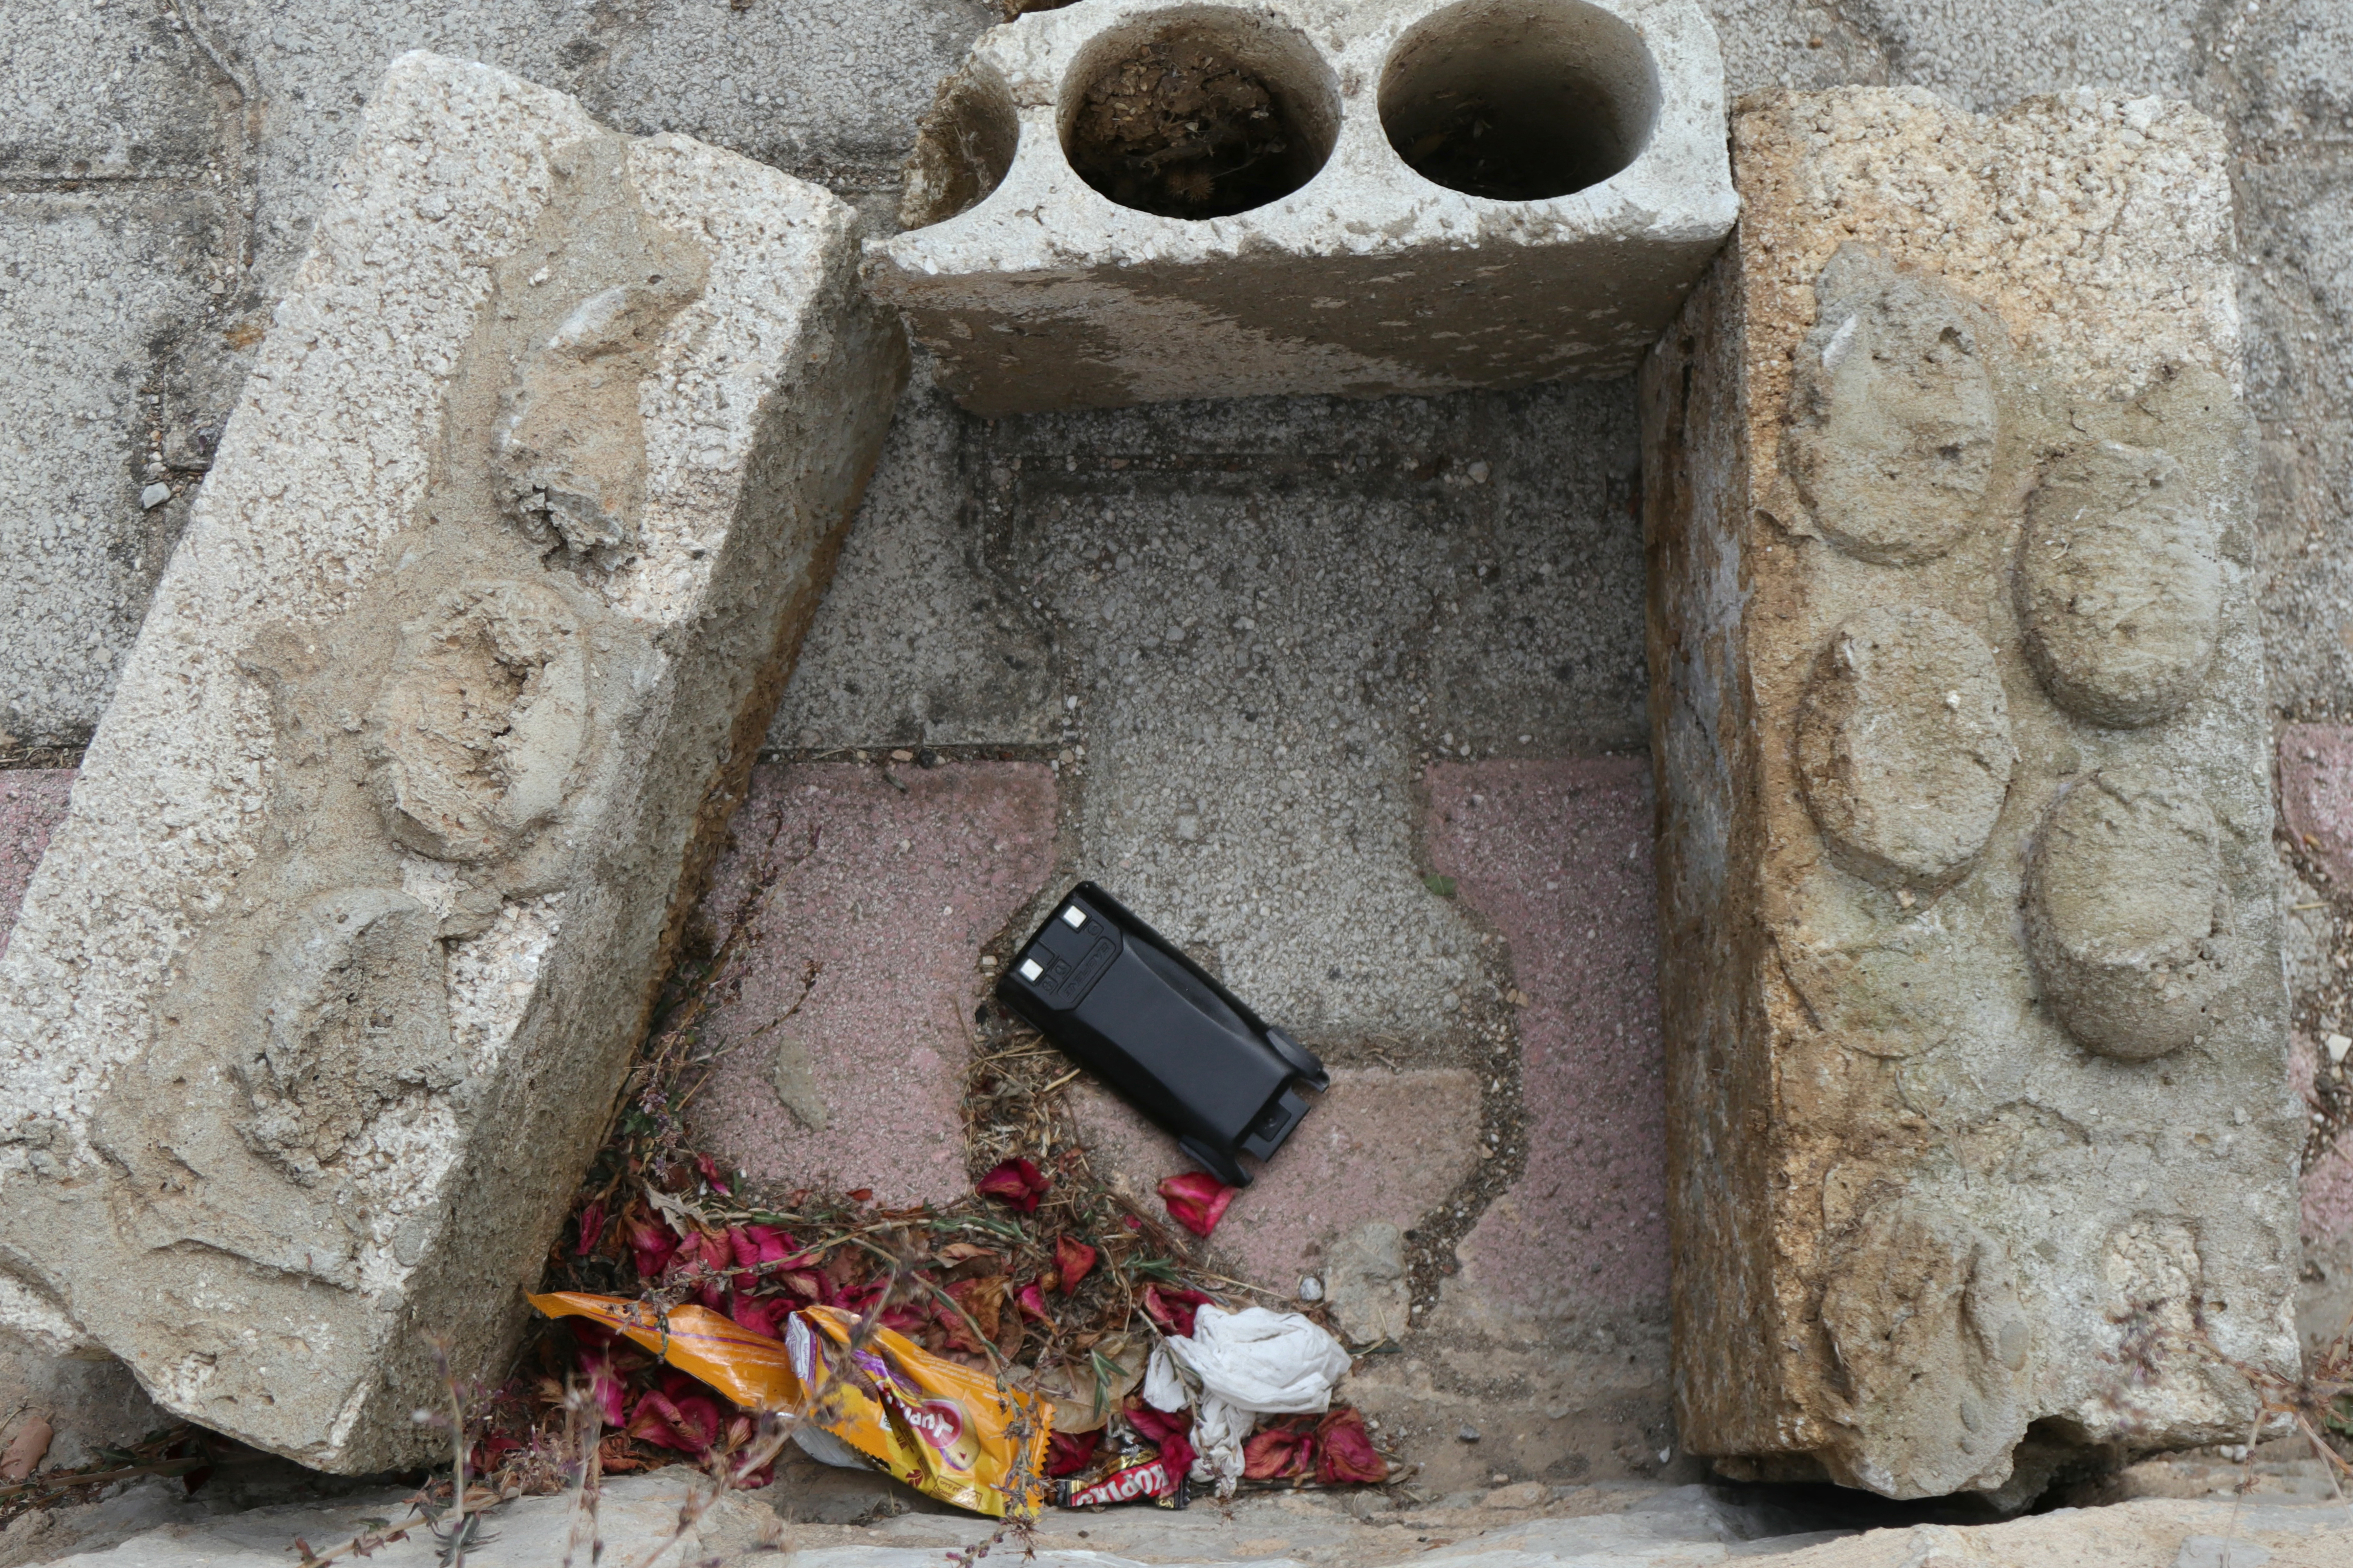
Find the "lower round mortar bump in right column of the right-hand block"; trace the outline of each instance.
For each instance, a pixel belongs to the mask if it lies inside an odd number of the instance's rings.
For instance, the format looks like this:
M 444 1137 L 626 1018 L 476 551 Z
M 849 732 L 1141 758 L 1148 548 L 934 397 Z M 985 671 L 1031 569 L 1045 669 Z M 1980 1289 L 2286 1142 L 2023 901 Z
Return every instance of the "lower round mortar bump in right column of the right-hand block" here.
M 2179 783 L 2094 773 L 2042 823 L 2026 947 L 2085 1048 L 2144 1063 L 2200 1041 L 2231 978 L 2221 914 L 2221 832 Z

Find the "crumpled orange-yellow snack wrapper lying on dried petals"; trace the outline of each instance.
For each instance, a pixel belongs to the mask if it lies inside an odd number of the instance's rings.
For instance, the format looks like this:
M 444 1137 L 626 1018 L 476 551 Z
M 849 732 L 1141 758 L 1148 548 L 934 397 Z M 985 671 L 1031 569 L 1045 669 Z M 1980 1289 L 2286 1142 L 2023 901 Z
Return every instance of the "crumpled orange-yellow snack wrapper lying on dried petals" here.
M 1031 1519 L 1045 1502 L 1052 1401 L 944 1361 L 904 1333 L 875 1328 L 852 1349 L 856 1319 L 802 1307 L 772 1340 L 711 1312 L 654 1312 L 619 1295 L 532 1295 L 548 1316 L 584 1316 L 628 1335 L 746 1410 L 800 1415 L 915 1490 L 960 1509 Z

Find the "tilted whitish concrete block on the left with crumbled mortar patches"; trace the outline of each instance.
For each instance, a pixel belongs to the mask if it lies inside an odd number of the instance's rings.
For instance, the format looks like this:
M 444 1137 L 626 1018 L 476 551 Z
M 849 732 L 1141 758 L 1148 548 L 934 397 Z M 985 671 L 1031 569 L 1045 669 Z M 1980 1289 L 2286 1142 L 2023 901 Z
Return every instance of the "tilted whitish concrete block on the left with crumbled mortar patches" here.
M 833 197 L 395 61 L 0 959 L 5 1269 L 158 1403 L 504 1366 L 901 376 Z

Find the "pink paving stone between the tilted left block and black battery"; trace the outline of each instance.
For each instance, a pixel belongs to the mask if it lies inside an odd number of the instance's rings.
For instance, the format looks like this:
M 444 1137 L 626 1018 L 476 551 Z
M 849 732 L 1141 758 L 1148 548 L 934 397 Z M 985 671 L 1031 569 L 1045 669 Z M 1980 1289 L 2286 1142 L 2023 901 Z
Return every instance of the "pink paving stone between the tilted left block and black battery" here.
M 729 1053 L 692 1131 L 762 1185 L 873 1187 L 880 1204 L 967 1190 L 974 964 L 1054 870 L 1054 773 L 960 762 L 894 776 L 904 792 L 845 762 L 758 769 L 704 898 L 720 936 L 744 931 L 706 1016 Z M 786 1037 L 824 1131 L 776 1093 Z

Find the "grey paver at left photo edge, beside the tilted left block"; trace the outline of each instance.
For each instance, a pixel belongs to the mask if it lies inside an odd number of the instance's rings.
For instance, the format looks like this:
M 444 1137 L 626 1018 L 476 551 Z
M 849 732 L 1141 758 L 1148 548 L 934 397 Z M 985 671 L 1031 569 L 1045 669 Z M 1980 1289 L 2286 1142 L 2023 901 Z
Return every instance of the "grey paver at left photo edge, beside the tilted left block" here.
M 198 195 L 0 195 L 0 733 L 80 745 L 186 512 L 141 505 L 151 343 L 207 299 Z M 7 745 L 0 741 L 0 745 Z

